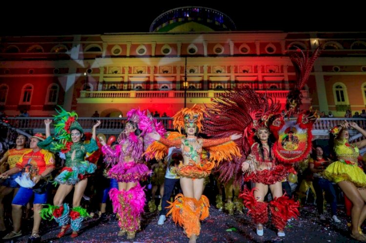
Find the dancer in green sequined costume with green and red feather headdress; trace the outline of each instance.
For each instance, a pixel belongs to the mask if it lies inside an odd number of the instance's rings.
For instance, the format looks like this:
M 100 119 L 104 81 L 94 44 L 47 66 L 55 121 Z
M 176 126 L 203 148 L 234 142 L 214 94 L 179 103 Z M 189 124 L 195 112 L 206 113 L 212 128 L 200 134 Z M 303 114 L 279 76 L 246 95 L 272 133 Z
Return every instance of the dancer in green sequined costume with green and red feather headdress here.
M 101 124 L 98 120 L 92 129 L 92 138 L 89 144 L 84 144 L 82 137 L 84 132 L 80 124 L 76 121 L 78 115 L 75 112 L 66 112 L 61 107 L 59 114 L 55 115 L 55 137 L 51 136 L 50 124 L 51 119 L 44 120 L 46 125 L 46 140 L 40 147 L 46 148 L 53 152 L 63 152 L 66 157 L 65 167 L 61 173 L 55 178 L 55 183 L 60 184 L 56 195 L 53 199 L 54 206 L 48 205 L 41 211 L 43 219 L 55 219 L 61 226 L 61 232 L 57 235 L 61 238 L 66 230 L 71 226 L 73 233 L 72 238 L 78 236 L 81 228 L 81 222 L 85 217 L 89 217 L 85 208 L 80 206 L 82 194 L 88 182 L 88 175 L 94 173 L 96 165 L 85 161 L 87 152 L 91 153 L 98 150 L 96 142 L 96 129 Z M 70 210 L 67 204 L 63 204 L 63 200 L 75 187 L 73 197 L 73 208 Z M 71 225 L 70 225 L 71 221 Z

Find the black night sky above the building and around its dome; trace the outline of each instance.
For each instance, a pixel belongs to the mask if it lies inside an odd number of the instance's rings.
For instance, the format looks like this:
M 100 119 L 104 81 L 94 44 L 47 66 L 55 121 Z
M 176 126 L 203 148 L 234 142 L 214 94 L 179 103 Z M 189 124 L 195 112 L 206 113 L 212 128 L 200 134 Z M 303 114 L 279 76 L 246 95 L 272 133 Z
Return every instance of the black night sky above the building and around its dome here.
M 144 0 L 146 1 L 146 0 Z M 0 36 L 103 34 L 148 32 L 163 12 L 183 6 L 205 6 L 228 15 L 239 31 L 366 31 L 357 3 L 336 5 L 321 1 L 54 1 L 46 4 L 5 3 Z M 96 2 L 96 1 L 93 1 Z M 127 9 L 127 10 L 126 10 Z M 6 15 L 4 13 L 7 13 Z

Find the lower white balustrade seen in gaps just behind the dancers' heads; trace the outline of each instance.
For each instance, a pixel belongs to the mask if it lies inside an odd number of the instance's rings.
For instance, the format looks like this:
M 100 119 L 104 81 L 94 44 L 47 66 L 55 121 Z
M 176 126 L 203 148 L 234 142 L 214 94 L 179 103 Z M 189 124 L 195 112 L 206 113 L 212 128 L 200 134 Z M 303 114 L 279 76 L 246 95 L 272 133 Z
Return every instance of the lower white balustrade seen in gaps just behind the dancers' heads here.
M 30 132 L 44 132 L 44 119 L 49 117 L 8 117 L 8 123 L 24 131 Z M 98 128 L 98 132 L 105 134 L 118 134 L 124 128 L 127 118 L 122 117 L 79 117 L 78 122 L 81 127 L 87 132 L 91 131 L 91 128 L 95 124 L 96 120 L 101 120 L 102 124 Z M 157 117 L 158 121 L 161 121 L 164 127 L 168 130 L 173 130 L 173 121 L 171 117 Z M 336 125 L 339 125 L 342 121 L 356 122 L 361 128 L 366 128 L 365 118 L 320 118 L 313 125 L 313 135 L 328 135 L 329 129 Z M 52 126 L 51 126 L 52 127 Z M 356 132 L 351 130 L 351 135 Z

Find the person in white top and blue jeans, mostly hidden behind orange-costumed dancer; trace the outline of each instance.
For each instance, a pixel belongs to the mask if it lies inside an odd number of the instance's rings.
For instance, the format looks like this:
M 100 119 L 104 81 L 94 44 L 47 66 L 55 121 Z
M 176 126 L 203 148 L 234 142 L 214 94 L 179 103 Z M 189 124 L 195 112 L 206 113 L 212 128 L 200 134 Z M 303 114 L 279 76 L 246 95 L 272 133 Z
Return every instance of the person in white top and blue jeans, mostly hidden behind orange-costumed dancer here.
M 183 160 L 181 149 L 177 149 L 175 147 L 169 148 L 168 156 L 166 157 L 167 168 L 165 172 L 165 181 L 164 181 L 164 194 L 162 199 L 162 210 L 159 212 L 159 220 L 158 225 L 163 225 L 166 219 L 166 206 L 168 206 L 167 201 L 170 199 L 172 191 L 174 189 L 174 185 L 179 182 L 179 177 L 172 173 L 171 167 L 178 167 L 180 161 Z

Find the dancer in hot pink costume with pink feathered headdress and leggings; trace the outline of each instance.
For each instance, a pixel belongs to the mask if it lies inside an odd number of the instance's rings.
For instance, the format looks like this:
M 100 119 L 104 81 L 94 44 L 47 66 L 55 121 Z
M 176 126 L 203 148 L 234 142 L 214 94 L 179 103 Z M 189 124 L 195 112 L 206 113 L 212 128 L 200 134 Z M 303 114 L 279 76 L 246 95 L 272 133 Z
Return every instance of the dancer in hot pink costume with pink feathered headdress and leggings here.
M 118 137 L 119 145 L 113 150 L 101 141 L 104 161 L 111 167 L 109 178 L 117 179 L 118 190 L 112 188 L 109 196 L 114 212 L 119 217 L 119 236 L 127 233 L 127 239 L 135 238 L 140 229 L 140 219 L 146 203 L 144 188 L 139 181 L 145 180 L 151 171 L 143 164 L 143 136 L 156 131 L 157 123 L 146 115 L 146 111 L 131 110 L 128 122 Z

